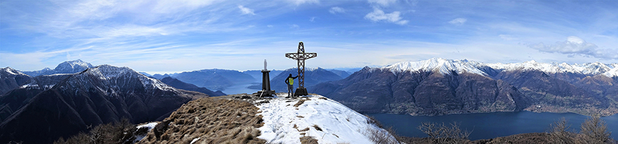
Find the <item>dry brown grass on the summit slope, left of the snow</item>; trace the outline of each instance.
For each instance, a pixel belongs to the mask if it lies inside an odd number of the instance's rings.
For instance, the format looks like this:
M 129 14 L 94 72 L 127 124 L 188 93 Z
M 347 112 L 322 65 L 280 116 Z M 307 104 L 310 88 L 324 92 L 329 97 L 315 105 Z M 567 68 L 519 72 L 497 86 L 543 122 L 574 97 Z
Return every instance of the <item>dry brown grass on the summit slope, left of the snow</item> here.
M 183 105 L 139 143 L 266 143 L 262 115 L 247 101 L 207 97 Z M 167 123 L 167 124 L 166 124 Z

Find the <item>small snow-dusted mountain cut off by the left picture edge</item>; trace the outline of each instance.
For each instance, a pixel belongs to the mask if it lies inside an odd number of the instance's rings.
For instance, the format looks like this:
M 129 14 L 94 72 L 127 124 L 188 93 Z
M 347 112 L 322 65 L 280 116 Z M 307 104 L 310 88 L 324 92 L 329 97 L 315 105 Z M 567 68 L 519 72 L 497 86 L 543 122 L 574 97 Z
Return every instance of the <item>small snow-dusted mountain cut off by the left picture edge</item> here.
M 0 69 L 0 95 L 27 83 L 32 77 L 10 67 Z

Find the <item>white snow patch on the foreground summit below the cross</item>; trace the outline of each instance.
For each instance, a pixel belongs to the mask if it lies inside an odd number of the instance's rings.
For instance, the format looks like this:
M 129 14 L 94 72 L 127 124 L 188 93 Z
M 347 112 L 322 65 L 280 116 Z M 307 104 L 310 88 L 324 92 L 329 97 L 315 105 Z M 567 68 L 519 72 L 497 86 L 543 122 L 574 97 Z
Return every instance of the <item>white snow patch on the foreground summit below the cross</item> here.
M 311 136 L 318 143 L 374 143 L 367 132 L 386 132 L 368 122 L 371 120 L 364 115 L 332 99 L 320 95 L 301 99 L 310 100 L 297 107 L 298 99 L 274 98 L 258 104 L 264 119 L 258 138 L 266 143 L 300 143 L 302 136 Z

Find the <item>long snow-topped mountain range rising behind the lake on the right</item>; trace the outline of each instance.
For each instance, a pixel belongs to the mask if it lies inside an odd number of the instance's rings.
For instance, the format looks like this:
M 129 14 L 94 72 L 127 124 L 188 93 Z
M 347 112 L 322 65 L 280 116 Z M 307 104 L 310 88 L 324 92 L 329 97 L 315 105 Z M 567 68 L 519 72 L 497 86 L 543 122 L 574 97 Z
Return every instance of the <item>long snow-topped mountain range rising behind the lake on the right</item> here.
M 369 68 L 309 88 L 358 112 L 618 113 L 618 64 L 483 64 L 433 58 Z

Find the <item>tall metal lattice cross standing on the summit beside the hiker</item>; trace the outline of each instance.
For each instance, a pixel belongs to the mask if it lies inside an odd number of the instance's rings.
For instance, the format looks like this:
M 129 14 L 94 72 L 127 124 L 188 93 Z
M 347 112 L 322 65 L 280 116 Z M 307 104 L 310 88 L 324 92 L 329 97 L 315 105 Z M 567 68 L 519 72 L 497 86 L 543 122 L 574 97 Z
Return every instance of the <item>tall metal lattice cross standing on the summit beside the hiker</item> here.
M 298 62 L 298 88 L 294 96 L 309 95 L 305 88 L 305 60 L 317 57 L 317 53 L 305 53 L 303 42 L 298 43 L 298 51 L 296 53 L 286 53 L 286 57 L 297 60 Z

